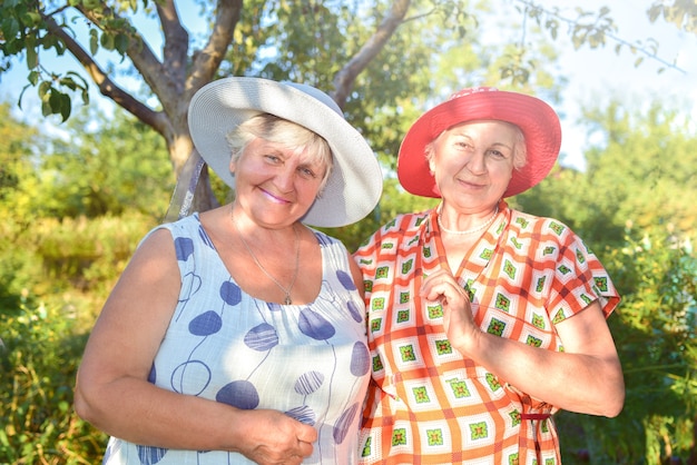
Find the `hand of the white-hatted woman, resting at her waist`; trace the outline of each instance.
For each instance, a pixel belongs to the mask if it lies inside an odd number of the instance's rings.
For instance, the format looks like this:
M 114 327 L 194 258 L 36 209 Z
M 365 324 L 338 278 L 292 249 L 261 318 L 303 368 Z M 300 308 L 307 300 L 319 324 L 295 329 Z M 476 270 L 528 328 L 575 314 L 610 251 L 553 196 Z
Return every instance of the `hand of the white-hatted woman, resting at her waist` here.
M 246 441 L 239 453 L 262 465 L 300 464 L 312 455 L 317 432 L 276 410 L 245 410 Z

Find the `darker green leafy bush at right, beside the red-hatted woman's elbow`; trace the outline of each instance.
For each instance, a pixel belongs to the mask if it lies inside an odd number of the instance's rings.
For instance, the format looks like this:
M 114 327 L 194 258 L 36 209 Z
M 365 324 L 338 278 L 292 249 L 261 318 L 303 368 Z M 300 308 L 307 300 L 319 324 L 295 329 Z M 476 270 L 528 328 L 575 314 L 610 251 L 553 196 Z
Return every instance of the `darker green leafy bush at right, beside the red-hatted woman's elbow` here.
M 571 439 L 566 448 L 591 463 L 694 463 L 697 257 L 667 228 L 629 229 L 625 247 L 609 251 L 605 265 L 622 295 L 609 323 L 625 373 L 625 408 L 613 419 L 560 416 L 563 429 L 583 431 L 565 436 Z

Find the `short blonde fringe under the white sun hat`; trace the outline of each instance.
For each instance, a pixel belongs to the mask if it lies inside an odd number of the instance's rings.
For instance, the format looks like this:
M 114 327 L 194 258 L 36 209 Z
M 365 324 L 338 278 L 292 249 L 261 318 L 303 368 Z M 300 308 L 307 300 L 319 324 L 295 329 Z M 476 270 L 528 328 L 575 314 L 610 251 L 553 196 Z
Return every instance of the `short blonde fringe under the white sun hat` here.
M 334 166 L 332 149 L 322 136 L 287 119 L 261 113 L 235 127 L 225 137 L 230 148 L 232 160 L 236 161 L 247 145 L 256 138 L 279 144 L 296 154 L 305 152 L 307 162 L 322 165 L 325 168 L 320 185 L 322 191 Z

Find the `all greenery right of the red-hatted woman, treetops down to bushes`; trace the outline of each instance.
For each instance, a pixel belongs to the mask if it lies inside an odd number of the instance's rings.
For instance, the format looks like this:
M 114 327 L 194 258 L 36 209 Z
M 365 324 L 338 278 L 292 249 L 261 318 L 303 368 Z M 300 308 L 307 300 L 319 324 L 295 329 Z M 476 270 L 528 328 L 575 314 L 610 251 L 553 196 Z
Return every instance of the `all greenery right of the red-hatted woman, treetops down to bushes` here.
M 565 463 L 695 461 L 695 128 L 669 102 L 587 108 L 587 171 L 557 167 L 512 201 L 567 222 L 608 268 L 622 304 L 609 324 L 627 399 L 612 419 L 558 416 Z M 687 462 L 694 463 L 694 462 Z

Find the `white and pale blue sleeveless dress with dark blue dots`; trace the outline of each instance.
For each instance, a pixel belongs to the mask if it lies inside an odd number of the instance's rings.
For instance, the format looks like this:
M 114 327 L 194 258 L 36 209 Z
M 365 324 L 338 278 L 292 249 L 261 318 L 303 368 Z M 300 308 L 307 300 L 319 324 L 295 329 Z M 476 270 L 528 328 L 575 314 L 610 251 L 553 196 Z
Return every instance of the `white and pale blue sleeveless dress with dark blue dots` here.
M 158 228 L 173 235 L 181 290 L 148 380 L 237 408 L 284 412 L 318 432 L 305 463 L 356 463 L 370 355 L 365 305 L 343 244 L 313 230 L 322 250 L 320 295 L 307 305 L 279 305 L 237 286 L 197 214 Z M 249 463 L 237 453 L 166 449 L 116 437 L 104 457 L 107 465 Z

